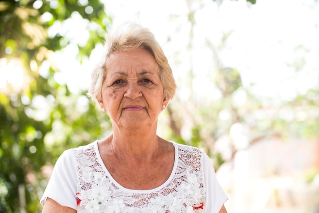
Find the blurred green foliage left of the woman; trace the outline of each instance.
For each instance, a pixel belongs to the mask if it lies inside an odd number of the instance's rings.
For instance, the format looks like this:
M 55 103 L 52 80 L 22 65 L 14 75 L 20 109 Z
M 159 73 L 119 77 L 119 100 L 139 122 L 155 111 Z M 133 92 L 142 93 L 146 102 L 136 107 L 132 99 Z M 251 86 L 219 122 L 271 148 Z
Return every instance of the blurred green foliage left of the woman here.
M 51 55 L 71 40 L 59 34 L 49 36 L 48 29 L 74 14 L 94 27 L 87 27 L 90 38 L 79 48 L 78 60 L 82 60 L 102 42 L 112 22 L 98 0 L 0 2 L 0 58 L 18 61 L 28 79 L 19 90 L 10 82 L 0 90 L 0 212 L 40 212 L 46 167 L 65 149 L 100 137 L 101 123 L 109 125 L 85 91 L 72 94 L 54 78 L 58 68 Z M 39 74 L 43 61 L 50 63 L 46 76 Z M 41 113 L 46 116 L 39 117 Z

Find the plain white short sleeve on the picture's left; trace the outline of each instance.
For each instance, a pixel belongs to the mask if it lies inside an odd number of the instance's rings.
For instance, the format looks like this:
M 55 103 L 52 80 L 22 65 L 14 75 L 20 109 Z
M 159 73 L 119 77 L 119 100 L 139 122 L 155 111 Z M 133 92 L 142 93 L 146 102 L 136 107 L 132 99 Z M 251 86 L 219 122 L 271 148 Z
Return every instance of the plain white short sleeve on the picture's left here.
M 40 200 L 43 206 L 51 198 L 62 206 L 76 207 L 76 168 L 72 150 L 66 150 L 57 160 L 44 194 Z

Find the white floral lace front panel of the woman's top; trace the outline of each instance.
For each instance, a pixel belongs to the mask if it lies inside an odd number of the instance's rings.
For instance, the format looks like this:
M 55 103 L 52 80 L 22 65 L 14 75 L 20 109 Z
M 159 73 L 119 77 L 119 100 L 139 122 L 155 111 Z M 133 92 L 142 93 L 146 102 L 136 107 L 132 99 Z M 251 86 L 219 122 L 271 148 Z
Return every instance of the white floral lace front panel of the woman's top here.
M 205 187 L 202 153 L 178 146 L 174 177 L 162 188 L 123 190 L 112 182 L 98 162 L 95 147 L 75 151 L 77 163 L 77 212 L 90 213 L 199 213 L 204 212 Z

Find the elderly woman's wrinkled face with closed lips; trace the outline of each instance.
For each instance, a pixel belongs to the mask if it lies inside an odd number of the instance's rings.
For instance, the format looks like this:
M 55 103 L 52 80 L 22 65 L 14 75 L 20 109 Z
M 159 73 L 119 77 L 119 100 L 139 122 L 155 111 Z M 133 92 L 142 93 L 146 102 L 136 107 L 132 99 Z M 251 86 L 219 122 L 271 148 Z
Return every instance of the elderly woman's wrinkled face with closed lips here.
M 168 104 L 157 63 L 145 49 L 114 52 L 106 62 L 102 85 L 104 108 L 118 128 L 155 127 L 157 116 Z

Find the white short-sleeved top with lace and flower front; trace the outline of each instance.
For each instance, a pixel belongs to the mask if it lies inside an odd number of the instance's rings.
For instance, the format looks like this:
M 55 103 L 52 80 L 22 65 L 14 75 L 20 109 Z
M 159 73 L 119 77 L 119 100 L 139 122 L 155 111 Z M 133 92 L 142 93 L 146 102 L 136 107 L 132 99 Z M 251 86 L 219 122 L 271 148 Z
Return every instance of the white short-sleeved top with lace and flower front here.
M 97 141 L 66 150 L 55 165 L 41 204 L 51 198 L 81 213 L 218 213 L 228 197 L 210 159 L 200 149 L 172 143 L 172 173 L 152 190 L 130 190 L 116 182 L 103 164 Z

